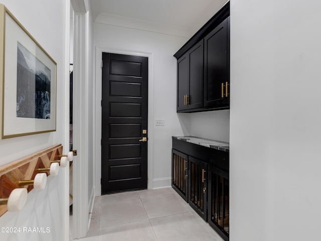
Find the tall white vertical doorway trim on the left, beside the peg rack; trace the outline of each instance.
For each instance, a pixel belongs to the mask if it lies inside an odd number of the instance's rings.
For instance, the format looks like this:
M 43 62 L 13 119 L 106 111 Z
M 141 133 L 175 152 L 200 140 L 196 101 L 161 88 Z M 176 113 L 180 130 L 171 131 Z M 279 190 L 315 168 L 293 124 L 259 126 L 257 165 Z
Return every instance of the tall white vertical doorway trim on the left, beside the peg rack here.
M 74 12 L 73 238 L 88 232 L 88 13 Z

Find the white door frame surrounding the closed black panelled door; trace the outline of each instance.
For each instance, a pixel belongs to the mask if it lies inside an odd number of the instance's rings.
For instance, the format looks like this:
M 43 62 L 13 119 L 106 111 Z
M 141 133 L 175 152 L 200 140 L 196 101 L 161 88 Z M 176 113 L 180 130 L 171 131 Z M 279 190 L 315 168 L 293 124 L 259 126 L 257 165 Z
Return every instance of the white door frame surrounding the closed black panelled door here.
M 95 109 L 94 109 L 94 160 L 95 161 L 95 195 L 101 195 L 101 80 L 102 80 L 102 68 L 101 60 L 102 53 L 112 53 L 112 54 L 125 54 L 125 55 L 134 55 L 148 58 L 148 142 L 147 142 L 147 189 L 152 189 L 152 160 L 153 160 L 153 54 L 147 52 L 131 51 L 131 50 L 120 50 L 114 48 L 102 48 L 96 46 L 96 63 L 95 63 Z

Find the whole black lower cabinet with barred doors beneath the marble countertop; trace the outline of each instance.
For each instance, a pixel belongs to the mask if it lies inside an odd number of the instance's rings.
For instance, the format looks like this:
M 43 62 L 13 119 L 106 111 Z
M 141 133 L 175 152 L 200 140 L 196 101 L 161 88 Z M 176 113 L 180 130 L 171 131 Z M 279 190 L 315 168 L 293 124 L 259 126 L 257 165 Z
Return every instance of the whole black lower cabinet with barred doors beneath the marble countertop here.
M 173 138 L 172 187 L 229 240 L 229 152 Z

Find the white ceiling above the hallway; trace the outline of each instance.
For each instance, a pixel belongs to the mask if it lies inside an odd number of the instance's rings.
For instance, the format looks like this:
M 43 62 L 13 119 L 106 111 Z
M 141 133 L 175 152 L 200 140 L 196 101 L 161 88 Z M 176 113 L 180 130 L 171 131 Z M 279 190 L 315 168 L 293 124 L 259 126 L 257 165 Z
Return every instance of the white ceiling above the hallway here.
M 124 21 L 120 19 L 126 19 L 127 22 L 148 23 L 149 27 L 162 26 L 160 32 L 176 28 L 180 30 L 177 33 L 184 31 L 185 37 L 191 37 L 226 2 L 227 0 L 91 0 L 91 7 L 93 19 L 98 23 L 110 22 L 115 25 L 117 19 L 116 25 L 122 25 Z M 174 32 L 169 31 L 170 34 Z

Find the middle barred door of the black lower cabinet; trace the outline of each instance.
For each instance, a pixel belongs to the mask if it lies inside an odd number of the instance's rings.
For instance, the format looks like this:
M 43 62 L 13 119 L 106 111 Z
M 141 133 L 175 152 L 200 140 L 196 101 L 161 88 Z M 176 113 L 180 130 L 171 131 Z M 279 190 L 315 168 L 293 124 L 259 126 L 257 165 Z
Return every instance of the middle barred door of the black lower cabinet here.
M 207 164 L 189 157 L 189 203 L 207 221 Z

